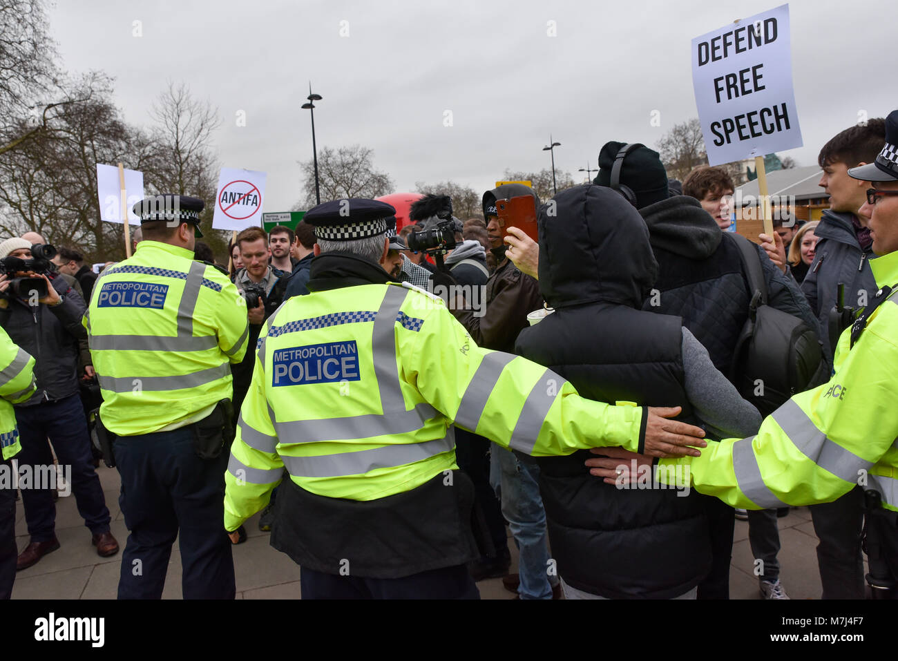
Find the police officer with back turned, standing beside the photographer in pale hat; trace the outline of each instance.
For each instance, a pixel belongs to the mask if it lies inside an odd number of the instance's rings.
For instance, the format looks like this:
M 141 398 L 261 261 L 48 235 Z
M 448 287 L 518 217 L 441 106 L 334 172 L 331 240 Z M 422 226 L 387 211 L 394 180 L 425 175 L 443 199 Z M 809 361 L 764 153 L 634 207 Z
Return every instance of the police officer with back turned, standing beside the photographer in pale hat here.
M 234 595 L 219 522 L 233 436 L 229 363 L 246 351 L 246 304 L 227 276 L 193 260 L 202 209 L 177 195 L 138 202 L 143 241 L 103 272 L 84 315 L 130 531 L 119 599 L 162 595 L 179 534 L 184 597 Z

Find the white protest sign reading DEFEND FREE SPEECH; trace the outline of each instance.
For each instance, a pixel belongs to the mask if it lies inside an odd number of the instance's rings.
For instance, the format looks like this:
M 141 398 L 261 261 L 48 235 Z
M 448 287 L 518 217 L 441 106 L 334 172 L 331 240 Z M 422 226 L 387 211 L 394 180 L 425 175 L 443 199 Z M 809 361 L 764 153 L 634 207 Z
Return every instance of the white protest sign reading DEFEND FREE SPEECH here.
M 711 165 L 802 145 L 788 4 L 693 39 L 692 84 Z

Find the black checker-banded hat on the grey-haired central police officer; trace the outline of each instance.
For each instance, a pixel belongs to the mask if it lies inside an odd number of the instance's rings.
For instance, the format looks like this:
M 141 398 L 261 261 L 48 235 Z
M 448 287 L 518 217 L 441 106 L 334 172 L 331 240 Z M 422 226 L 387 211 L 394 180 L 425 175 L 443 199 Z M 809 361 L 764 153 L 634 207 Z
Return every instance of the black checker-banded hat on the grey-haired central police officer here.
M 309 209 L 303 221 L 315 228 L 315 236 L 325 241 L 357 241 L 386 234 L 387 219 L 396 209 L 386 202 L 367 198 L 343 198 Z

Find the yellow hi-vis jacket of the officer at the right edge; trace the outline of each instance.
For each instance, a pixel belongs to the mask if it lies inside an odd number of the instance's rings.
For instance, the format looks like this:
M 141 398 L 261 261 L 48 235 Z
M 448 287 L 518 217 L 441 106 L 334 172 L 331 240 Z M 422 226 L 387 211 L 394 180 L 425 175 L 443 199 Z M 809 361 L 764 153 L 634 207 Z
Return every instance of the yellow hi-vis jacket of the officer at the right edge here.
M 877 286 L 898 284 L 898 252 L 870 268 Z M 829 383 L 792 397 L 757 436 L 660 460 L 659 480 L 686 482 L 688 466 L 695 489 L 750 509 L 830 502 L 859 484 L 898 510 L 898 291 L 870 315 L 854 348 L 850 335 L 839 338 Z

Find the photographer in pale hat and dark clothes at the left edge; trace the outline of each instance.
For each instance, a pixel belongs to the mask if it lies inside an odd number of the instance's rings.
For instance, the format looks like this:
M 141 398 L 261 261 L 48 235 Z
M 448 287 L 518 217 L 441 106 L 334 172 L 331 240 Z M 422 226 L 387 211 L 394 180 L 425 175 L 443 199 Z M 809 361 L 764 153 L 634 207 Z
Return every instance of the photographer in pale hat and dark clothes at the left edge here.
M 84 299 L 52 272 L 47 248 L 17 238 L 0 243 L 6 271 L 0 275 L 0 326 L 36 360 L 37 392 L 15 407 L 22 438 L 19 466 L 20 471 L 30 466 L 33 472 L 36 465 L 52 464 L 49 437 L 60 465 L 71 466 L 78 512 L 91 530 L 97 553 L 106 557 L 119 551 L 119 543 L 110 533 L 109 509 L 93 470 L 76 375 L 78 340 L 86 338 L 81 325 Z M 22 489 L 31 541 L 19 555 L 19 569 L 59 548 L 52 493 L 52 489 Z

